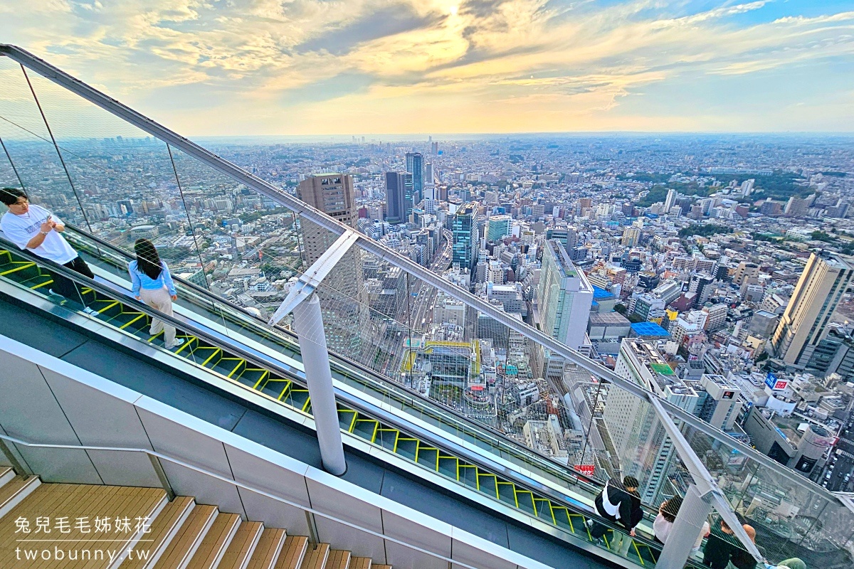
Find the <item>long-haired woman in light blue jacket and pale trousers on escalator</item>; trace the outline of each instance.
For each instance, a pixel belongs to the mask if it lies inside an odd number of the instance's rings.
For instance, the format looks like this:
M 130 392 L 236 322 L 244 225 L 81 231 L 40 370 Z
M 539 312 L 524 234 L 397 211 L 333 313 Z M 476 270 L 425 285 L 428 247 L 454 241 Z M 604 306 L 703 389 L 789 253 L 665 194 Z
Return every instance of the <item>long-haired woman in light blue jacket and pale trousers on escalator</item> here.
M 169 267 L 161 261 L 154 244 L 148 239 L 137 239 L 133 244 L 137 260 L 131 261 L 127 270 L 131 274 L 133 298 L 142 300 L 146 305 L 167 316 L 172 316 L 172 301 L 178 300 L 178 291 L 169 274 Z M 184 344 L 183 339 L 175 340 L 175 327 L 152 318 L 151 335 L 163 332 L 167 350 Z

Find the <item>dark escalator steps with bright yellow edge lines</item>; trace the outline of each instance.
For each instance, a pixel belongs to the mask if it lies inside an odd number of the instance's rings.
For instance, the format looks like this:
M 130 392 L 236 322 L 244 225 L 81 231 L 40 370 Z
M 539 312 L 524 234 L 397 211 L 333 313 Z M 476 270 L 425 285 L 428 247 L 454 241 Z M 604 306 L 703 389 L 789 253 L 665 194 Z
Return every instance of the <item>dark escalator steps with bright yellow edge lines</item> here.
M 79 244 L 79 240 L 78 240 Z M 13 283 L 15 286 L 24 287 L 52 302 L 64 305 L 73 311 L 79 311 L 85 305 L 90 309 L 88 318 L 107 326 L 98 328 L 101 334 L 107 334 L 108 330 L 115 333 L 132 334 L 139 340 L 149 342 L 155 347 L 160 346 L 159 335 L 150 337 L 148 332 L 149 323 L 152 318 L 160 318 L 169 324 L 179 328 L 179 337 L 185 340 L 184 345 L 172 348 L 175 357 L 183 358 L 200 369 L 207 369 L 214 374 L 219 374 L 222 380 L 231 380 L 251 387 L 254 390 L 266 393 L 277 399 L 281 404 L 301 413 L 310 415 L 310 400 L 307 391 L 298 380 L 298 375 L 284 372 L 280 366 L 265 367 L 266 363 L 253 357 L 251 351 L 243 350 L 245 346 L 237 346 L 236 342 L 222 341 L 217 335 L 212 334 L 207 325 L 202 322 L 182 321 L 170 316 L 160 315 L 148 306 L 137 302 L 135 299 L 126 297 L 120 291 L 115 291 L 100 282 L 92 282 L 79 276 L 64 267 L 48 264 L 44 260 L 32 256 L 29 253 L 20 253 L 8 243 L 0 240 L 0 275 L 5 282 Z M 85 251 L 91 254 L 91 251 Z M 111 260 L 108 255 L 107 263 Z M 120 256 L 113 256 L 119 258 Z M 114 260 L 113 259 L 113 260 Z M 102 264 L 96 264 L 101 272 Z M 71 279 L 79 286 L 83 305 L 70 302 L 68 299 L 58 297 L 56 294 L 47 293 L 51 279 L 59 274 Z M 103 275 L 111 273 L 103 271 Z M 182 288 L 182 296 L 188 296 Z M 24 298 L 26 295 L 17 295 Z M 190 294 L 188 298 L 196 298 Z M 26 301 L 26 299 L 25 299 Z M 237 347 L 241 349 L 235 351 Z M 257 379 L 257 381 L 255 381 Z M 267 384 L 272 383 L 270 389 Z M 261 385 L 263 384 L 263 385 Z M 352 414 L 352 415 L 351 415 Z M 456 456 L 453 450 L 445 450 L 442 446 L 433 446 L 418 435 L 395 427 L 393 424 L 366 415 L 359 409 L 348 408 L 347 404 L 339 404 L 339 415 L 342 419 L 342 427 L 354 436 L 364 438 L 367 442 L 376 445 L 378 449 L 394 453 L 395 455 L 408 458 L 414 467 L 424 467 L 438 473 L 448 480 L 449 484 L 458 485 L 460 490 L 464 488 L 477 491 L 484 496 L 494 499 L 495 507 L 504 504 L 506 508 L 512 508 L 518 515 L 528 516 L 533 523 L 534 520 L 546 522 L 553 525 L 554 530 L 570 543 L 589 543 L 591 540 L 588 532 L 588 522 L 604 525 L 609 531 L 601 538 L 600 542 L 594 542 L 600 548 L 607 550 L 609 554 L 615 554 L 623 560 L 628 560 L 632 565 L 652 566 L 658 558 L 660 549 L 655 543 L 644 537 L 629 537 L 618 528 L 589 514 L 584 508 L 578 508 L 573 504 L 565 504 L 544 496 L 536 489 L 531 489 L 512 480 L 506 479 L 501 474 L 490 472 L 488 469 L 469 462 L 465 458 Z M 353 417 L 351 420 L 350 417 Z M 412 444 L 410 444 L 412 443 Z M 407 445 L 412 448 L 407 450 Z M 432 453 L 432 458 L 430 458 Z M 616 536 L 616 537 L 615 537 Z M 621 538 L 622 537 L 622 538 Z M 579 541 L 580 540 L 580 541 Z

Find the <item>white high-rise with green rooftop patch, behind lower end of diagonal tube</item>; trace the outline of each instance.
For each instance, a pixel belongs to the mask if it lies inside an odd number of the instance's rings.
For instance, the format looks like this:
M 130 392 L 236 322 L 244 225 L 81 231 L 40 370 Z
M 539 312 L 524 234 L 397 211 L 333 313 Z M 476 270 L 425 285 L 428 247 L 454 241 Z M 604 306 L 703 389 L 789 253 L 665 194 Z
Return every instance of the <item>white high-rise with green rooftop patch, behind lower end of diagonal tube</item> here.
M 614 370 L 690 413 L 697 409 L 697 392 L 674 374 L 664 357 L 646 340 L 624 338 Z M 640 481 L 638 493 L 643 502 L 658 503 L 658 496 L 667 490 L 675 451 L 652 405 L 611 387 L 602 417 L 623 476 L 635 476 Z

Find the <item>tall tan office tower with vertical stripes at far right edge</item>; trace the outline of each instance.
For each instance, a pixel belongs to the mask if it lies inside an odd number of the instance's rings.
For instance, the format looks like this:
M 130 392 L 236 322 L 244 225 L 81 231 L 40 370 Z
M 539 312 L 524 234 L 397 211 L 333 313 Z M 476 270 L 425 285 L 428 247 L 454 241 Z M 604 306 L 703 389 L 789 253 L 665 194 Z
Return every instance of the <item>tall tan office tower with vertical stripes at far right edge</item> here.
M 828 335 L 828 322 L 852 276 L 850 258 L 810 255 L 771 340 L 776 357 L 792 365 L 810 361 L 816 345 Z

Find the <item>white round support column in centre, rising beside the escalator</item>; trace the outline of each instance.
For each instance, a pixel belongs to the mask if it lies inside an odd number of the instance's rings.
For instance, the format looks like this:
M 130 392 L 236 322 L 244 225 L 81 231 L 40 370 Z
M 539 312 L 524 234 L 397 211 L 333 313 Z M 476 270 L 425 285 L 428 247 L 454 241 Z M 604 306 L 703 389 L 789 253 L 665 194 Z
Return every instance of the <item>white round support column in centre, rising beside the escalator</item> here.
M 300 340 L 302 367 L 306 370 L 308 395 L 312 402 L 314 427 L 318 433 L 320 459 L 328 473 L 341 476 L 347 471 L 347 462 L 344 460 L 341 426 L 338 423 L 329 368 L 329 351 L 326 349 L 323 316 L 317 295 L 312 294 L 295 305 L 293 313 L 294 328 Z

